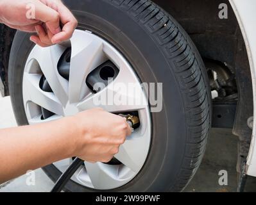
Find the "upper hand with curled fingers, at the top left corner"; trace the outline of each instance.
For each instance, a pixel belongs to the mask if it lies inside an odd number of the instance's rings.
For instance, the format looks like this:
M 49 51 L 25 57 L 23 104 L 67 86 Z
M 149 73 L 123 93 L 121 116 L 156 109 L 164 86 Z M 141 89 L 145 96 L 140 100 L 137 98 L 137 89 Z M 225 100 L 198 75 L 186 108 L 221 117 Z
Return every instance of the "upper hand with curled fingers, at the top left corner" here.
M 68 40 L 78 24 L 60 0 L 1 0 L 0 21 L 10 28 L 37 32 L 30 40 L 42 47 Z

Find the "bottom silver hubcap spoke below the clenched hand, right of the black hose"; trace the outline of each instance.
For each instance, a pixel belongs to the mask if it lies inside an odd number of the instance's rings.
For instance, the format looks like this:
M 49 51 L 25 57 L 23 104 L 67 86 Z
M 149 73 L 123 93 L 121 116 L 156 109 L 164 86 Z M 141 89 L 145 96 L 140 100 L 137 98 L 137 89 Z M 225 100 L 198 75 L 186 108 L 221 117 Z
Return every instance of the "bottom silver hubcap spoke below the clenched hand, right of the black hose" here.
M 92 186 L 98 190 L 115 188 L 124 183 L 124 180 L 118 179 L 118 169 L 112 165 L 85 162 L 85 167 Z

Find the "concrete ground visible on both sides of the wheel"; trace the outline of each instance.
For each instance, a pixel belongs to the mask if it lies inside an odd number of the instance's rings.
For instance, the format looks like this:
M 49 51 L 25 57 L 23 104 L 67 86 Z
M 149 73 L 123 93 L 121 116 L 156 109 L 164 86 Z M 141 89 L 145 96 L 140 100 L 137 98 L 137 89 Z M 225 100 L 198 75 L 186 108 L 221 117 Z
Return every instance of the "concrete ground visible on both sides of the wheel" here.
M 17 126 L 10 103 L 10 97 L 0 97 L 0 128 Z M 230 129 L 212 129 L 205 158 L 198 172 L 185 192 L 235 192 L 237 187 L 237 137 Z M 219 171 L 226 170 L 228 185 L 220 186 Z M 19 177 L 0 188 L 0 192 L 49 192 L 53 182 L 42 172 L 35 171 L 35 183 L 31 183 L 31 174 Z M 28 185 L 30 184 L 30 185 Z M 249 177 L 247 192 L 256 191 L 256 178 Z

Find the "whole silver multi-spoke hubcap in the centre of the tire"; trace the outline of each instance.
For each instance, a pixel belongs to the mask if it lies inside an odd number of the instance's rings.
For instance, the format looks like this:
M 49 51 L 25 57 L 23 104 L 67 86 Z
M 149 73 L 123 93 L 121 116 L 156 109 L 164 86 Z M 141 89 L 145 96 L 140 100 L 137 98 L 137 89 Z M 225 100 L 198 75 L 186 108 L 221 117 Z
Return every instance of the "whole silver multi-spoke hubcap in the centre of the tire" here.
M 119 72 L 110 83 L 111 86 L 95 93 L 88 86 L 87 80 L 92 72 L 96 72 L 97 68 L 100 69 L 108 61 Z M 104 82 L 107 80 L 106 76 L 113 77 L 114 74 L 113 70 L 106 69 L 105 66 L 105 70 L 99 70 L 98 77 Z M 116 88 L 118 83 L 126 86 L 133 83 L 137 92 L 123 92 Z M 118 94 L 128 100 L 142 96 L 143 101 L 139 104 L 94 103 L 96 98 L 109 93 Z M 72 177 L 76 183 L 97 190 L 118 188 L 130 182 L 144 165 L 151 140 L 149 107 L 144 103 L 147 102 L 146 95 L 131 65 L 103 38 L 88 31 L 76 30 L 69 47 L 53 45 L 42 48 L 36 45 L 28 56 L 24 69 L 23 99 L 29 124 L 60 119 L 95 107 L 113 113 L 135 111 L 139 115 L 141 126 L 127 138 L 115 155 L 120 163 L 112 165 L 85 162 Z M 62 160 L 54 165 L 64 172 L 71 161 L 72 159 Z

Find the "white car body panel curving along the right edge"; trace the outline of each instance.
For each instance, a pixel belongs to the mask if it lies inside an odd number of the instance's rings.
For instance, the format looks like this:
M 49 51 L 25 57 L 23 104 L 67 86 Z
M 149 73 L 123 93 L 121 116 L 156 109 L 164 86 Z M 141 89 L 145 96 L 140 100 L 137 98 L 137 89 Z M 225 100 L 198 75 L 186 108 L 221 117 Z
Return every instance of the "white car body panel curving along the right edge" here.
M 230 4 L 234 9 L 235 15 L 243 33 L 244 42 L 246 44 L 246 49 L 250 62 L 250 69 L 252 72 L 254 120 L 252 142 L 247 159 L 247 174 L 250 176 L 256 176 L 256 1 L 230 0 Z

